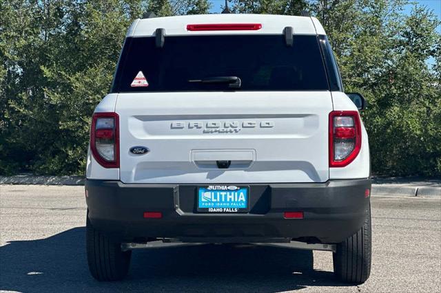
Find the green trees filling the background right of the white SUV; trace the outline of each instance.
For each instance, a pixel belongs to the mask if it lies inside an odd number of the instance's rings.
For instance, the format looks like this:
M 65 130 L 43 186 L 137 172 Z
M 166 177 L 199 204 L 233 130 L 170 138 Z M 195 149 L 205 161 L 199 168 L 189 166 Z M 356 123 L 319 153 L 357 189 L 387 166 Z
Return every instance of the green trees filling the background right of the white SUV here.
M 406 0 L 236 0 L 239 13 L 299 15 L 324 26 L 345 89 L 368 100 L 362 113 L 378 175 L 441 175 L 440 19 Z M 428 61 L 434 61 L 429 66 Z

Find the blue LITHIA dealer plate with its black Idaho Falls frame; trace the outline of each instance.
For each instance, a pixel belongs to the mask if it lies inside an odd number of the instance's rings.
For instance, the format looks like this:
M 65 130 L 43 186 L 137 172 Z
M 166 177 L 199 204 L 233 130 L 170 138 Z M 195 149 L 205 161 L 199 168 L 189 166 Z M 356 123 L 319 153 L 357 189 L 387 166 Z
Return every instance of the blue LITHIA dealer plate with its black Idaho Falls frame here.
M 245 197 L 245 202 L 241 196 Z M 197 186 L 196 210 L 198 213 L 248 213 L 249 198 L 249 186 L 228 184 Z

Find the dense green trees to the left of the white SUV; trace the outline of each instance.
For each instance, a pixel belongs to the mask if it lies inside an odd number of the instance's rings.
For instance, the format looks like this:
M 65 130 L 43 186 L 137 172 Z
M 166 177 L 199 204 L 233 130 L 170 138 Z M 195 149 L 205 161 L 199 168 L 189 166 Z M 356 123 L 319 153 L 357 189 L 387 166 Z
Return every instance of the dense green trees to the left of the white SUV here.
M 128 26 L 149 9 L 200 13 L 209 3 L 0 1 L 0 173 L 84 172 L 92 111 Z

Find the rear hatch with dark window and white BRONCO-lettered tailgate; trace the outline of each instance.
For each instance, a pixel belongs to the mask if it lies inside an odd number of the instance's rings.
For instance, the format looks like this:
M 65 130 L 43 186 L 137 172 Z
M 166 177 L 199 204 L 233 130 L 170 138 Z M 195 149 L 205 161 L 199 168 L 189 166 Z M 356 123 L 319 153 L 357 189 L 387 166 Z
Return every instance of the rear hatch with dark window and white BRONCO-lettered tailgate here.
M 155 41 L 127 38 L 114 80 L 122 182 L 328 180 L 332 100 L 316 35 Z

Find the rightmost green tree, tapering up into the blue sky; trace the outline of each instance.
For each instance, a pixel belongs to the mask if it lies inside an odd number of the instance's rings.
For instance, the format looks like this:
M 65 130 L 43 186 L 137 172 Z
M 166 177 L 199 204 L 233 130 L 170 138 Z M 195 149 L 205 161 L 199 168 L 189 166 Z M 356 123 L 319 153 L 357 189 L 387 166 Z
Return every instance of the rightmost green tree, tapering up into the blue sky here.
M 394 36 L 392 58 L 376 79 L 367 129 L 373 167 L 391 175 L 441 174 L 441 90 L 427 61 L 439 54 L 440 21 L 413 8 Z

